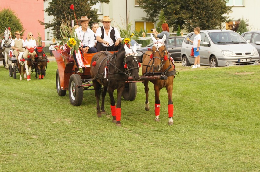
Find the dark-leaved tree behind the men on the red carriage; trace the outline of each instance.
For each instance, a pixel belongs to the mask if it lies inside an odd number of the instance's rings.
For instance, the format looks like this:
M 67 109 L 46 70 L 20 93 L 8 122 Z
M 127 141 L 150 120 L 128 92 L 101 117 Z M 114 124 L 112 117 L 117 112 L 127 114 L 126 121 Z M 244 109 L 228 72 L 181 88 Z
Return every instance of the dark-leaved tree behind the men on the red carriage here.
M 54 19 L 50 23 L 44 23 L 39 21 L 42 25 L 45 25 L 45 29 L 51 28 L 53 30 L 54 36 L 60 38 L 60 24 L 63 20 L 66 19 L 68 21 L 74 20 L 74 24 L 76 24 L 74 12 L 70 9 L 70 5 L 73 3 L 74 11 L 77 17 L 77 20 L 80 19 L 81 16 L 87 16 L 91 19 L 91 23 L 99 22 L 97 10 L 91 9 L 92 5 L 95 5 L 97 2 L 109 3 L 109 0 L 59 0 L 52 1 L 49 3 L 49 6 L 45 9 L 45 12 L 48 13 L 48 16 L 53 15 Z M 91 24 L 89 25 L 91 27 Z

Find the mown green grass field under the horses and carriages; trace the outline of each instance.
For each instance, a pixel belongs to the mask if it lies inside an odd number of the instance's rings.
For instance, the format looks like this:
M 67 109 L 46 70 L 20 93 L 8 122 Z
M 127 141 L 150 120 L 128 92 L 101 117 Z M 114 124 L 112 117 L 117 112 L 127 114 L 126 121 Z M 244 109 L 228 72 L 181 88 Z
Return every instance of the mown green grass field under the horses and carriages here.
M 137 83 L 136 99 L 122 100 L 122 127 L 108 95 L 102 118 L 92 90 L 78 107 L 59 97 L 56 69 L 51 61 L 43 80 L 27 82 L 0 66 L 0 171 L 260 171 L 260 65 L 177 66 L 172 126 L 166 90 L 155 122 L 153 84 L 145 111 Z

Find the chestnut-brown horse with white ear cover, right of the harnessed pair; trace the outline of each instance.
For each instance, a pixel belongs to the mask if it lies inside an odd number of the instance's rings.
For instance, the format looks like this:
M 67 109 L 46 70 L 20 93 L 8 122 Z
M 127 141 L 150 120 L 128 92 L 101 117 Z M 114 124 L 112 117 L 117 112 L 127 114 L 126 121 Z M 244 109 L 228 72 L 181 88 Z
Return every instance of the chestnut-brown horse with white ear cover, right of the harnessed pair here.
M 168 125 L 173 124 L 173 111 L 174 105 L 172 102 L 172 89 L 173 89 L 173 79 L 175 77 L 175 65 L 173 64 L 172 59 L 168 56 L 165 48 L 165 38 L 164 35 L 162 39 L 156 40 L 151 34 L 151 38 L 153 40 L 152 51 L 146 51 L 143 55 L 143 68 L 142 74 L 143 76 L 151 76 L 151 75 L 161 75 L 166 80 L 150 80 L 150 82 L 154 85 L 155 92 L 155 121 L 160 121 L 160 90 L 162 88 L 166 88 L 168 94 Z M 145 110 L 149 111 L 149 101 L 148 101 L 148 87 L 147 80 L 143 81 L 144 90 L 146 94 L 145 100 Z

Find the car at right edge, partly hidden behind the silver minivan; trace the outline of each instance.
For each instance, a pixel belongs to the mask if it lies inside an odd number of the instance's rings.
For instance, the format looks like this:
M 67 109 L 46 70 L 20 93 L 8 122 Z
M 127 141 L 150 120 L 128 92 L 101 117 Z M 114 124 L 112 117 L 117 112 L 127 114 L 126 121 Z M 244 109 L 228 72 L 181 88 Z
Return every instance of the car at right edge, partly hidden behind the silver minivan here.
M 253 45 L 260 54 L 260 31 L 244 32 L 241 36 L 251 45 Z

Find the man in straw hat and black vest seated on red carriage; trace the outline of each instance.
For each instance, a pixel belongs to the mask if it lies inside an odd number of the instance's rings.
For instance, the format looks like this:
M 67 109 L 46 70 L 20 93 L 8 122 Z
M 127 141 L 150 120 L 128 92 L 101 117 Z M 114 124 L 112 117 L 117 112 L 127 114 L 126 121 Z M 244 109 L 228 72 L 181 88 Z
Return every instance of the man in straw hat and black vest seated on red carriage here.
M 117 51 L 121 47 L 120 33 L 117 28 L 110 26 L 112 20 L 109 16 L 103 16 L 103 19 L 100 20 L 103 26 L 99 27 L 96 32 L 96 40 L 98 41 L 96 48 L 98 51 L 106 51 L 106 49 L 107 51 Z

